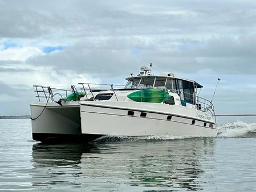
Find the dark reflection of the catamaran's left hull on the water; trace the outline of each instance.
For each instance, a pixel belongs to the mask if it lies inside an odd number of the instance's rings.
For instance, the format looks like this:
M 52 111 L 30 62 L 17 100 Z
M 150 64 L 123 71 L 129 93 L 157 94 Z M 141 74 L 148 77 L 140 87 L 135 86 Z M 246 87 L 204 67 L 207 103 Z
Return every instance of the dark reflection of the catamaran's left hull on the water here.
M 75 181 L 82 175 L 79 164 L 82 154 L 91 153 L 94 145 L 62 144 L 32 146 L 32 161 L 35 168 L 32 186 L 62 185 L 79 187 L 82 183 Z

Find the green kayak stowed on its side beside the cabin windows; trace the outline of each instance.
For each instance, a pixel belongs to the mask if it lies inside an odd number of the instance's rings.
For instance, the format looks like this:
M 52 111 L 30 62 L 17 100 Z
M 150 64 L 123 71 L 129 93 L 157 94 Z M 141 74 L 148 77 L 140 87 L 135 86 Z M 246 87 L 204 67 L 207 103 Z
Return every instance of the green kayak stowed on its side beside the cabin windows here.
M 127 97 L 136 102 L 162 103 L 169 98 L 169 93 L 164 89 L 141 89 L 127 95 Z

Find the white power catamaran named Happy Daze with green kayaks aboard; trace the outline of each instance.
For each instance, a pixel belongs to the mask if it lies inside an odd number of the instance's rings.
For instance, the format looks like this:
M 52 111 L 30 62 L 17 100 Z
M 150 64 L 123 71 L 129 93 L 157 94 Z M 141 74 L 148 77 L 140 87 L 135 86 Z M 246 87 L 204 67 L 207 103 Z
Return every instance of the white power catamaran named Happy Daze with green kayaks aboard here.
M 198 96 L 202 85 L 151 70 L 141 67 L 123 87 L 79 83 L 77 91 L 74 85 L 71 90 L 34 85 L 39 102 L 30 104 L 32 138 L 90 142 L 108 135 L 216 136 L 213 104 Z

